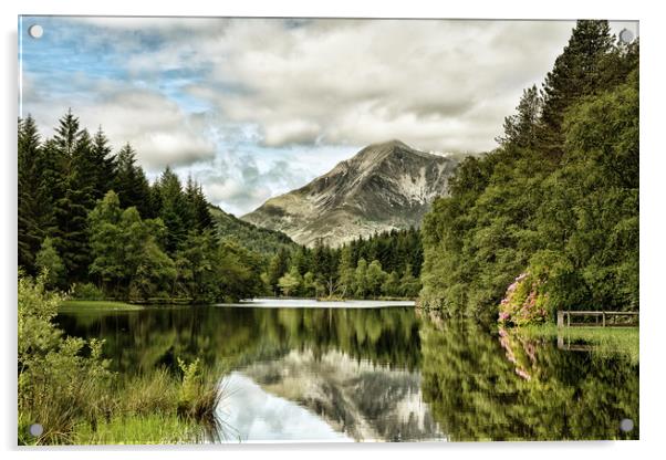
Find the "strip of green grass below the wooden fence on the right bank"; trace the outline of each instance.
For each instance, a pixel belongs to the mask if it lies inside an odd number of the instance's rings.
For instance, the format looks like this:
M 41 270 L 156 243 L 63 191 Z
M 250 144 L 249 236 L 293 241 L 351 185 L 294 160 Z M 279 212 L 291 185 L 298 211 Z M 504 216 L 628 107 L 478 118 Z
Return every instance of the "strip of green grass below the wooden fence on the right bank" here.
M 638 364 L 638 327 L 558 327 L 554 324 L 520 327 L 520 333 L 556 339 L 561 336 L 565 343 L 585 343 L 592 345 L 592 353 L 601 357 L 623 356 L 632 364 Z

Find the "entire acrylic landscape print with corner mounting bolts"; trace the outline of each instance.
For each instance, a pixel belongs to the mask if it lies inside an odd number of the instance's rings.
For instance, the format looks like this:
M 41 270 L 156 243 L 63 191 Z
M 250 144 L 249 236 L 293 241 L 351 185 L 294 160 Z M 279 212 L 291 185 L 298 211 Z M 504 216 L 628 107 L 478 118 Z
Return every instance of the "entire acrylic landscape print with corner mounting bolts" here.
M 19 443 L 638 438 L 636 22 L 19 33 Z

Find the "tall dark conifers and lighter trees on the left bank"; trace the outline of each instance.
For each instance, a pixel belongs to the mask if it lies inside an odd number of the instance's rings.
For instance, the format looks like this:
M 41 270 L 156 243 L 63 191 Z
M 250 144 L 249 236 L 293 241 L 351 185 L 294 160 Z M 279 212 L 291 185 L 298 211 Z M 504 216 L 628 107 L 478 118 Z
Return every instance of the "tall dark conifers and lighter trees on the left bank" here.
M 48 286 L 117 299 L 237 300 L 261 292 L 261 260 L 220 241 L 201 186 L 166 167 L 149 184 L 129 144 L 116 154 L 67 112 L 42 140 L 19 119 L 19 266 Z M 93 284 L 90 284 L 93 283 Z M 94 286 L 94 288 L 93 288 Z M 83 289 L 81 289 L 83 291 Z

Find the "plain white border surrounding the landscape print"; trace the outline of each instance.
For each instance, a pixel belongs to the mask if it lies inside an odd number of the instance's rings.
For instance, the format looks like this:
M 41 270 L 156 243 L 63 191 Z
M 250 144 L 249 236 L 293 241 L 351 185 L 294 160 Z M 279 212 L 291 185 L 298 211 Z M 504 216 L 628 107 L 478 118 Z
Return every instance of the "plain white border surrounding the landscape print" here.
M 457 1 L 435 2 L 433 0 L 409 0 L 362 2 L 358 0 L 335 0 L 327 2 L 305 0 L 236 0 L 215 2 L 211 0 L 187 0 L 171 3 L 139 2 L 137 0 L 93 1 L 48 1 L 22 0 L 10 3 L 3 1 L 2 9 L 2 93 L 3 109 L 2 139 L 4 147 L 0 157 L 0 190 L 2 192 L 3 219 L 0 254 L 0 292 L 3 300 L 0 334 L 2 344 L 2 416 L 0 417 L 1 448 L 9 450 L 7 457 L 52 459 L 91 458 L 90 448 L 54 450 L 15 450 L 15 122 L 17 122 L 17 17 L 23 14 L 132 14 L 132 15 L 281 15 L 281 17 L 398 17 L 398 18 L 488 18 L 488 19 L 575 19 L 603 18 L 641 21 L 641 441 L 635 442 L 520 442 L 520 443 L 457 443 L 457 445 L 253 445 L 177 448 L 143 448 L 142 458 L 180 459 L 188 451 L 197 458 L 219 458 L 220 456 L 248 457 L 273 456 L 290 459 L 318 460 L 337 459 L 341 456 L 377 456 L 404 459 L 408 456 L 451 457 L 451 458 L 539 458 L 558 459 L 563 457 L 603 457 L 604 459 L 643 459 L 659 457 L 664 449 L 662 429 L 664 422 L 665 360 L 663 331 L 666 327 L 666 303 L 662 281 L 665 258 L 664 237 L 664 175 L 666 174 L 666 151 L 664 144 L 664 63 L 665 17 L 659 13 L 659 2 L 616 1 L 582 2 L 580 0 L 539 1 Z M 499 126 L 498 126 L 499 129 Z M 135 454 L 132 456 L 132 452 Z M 113 454 L 136 457 L 132 448 L 113 447 L 95 449 L 95 459 L 111 458 Z

